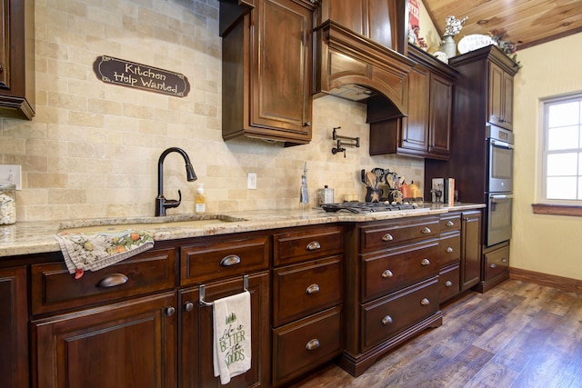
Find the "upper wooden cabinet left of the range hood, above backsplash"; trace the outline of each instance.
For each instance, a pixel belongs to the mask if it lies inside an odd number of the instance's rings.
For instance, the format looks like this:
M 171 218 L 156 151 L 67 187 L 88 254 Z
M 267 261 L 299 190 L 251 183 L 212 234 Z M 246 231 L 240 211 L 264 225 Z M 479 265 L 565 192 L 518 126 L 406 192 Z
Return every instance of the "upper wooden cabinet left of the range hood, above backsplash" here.
M 223 138 L 309 143 L 315 5 L 303 0 L 253 5 L 233 16 L 232 2 L 220 4 Z

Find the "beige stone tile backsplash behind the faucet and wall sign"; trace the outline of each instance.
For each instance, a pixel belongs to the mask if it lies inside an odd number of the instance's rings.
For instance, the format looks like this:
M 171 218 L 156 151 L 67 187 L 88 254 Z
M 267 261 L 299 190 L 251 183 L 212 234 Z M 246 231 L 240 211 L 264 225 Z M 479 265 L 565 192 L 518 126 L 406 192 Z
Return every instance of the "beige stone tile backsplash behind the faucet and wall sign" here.
M 325 184 L 336 201 L 364 199 L 359 172 L 389 168 L 423 182 L 422 159 L 368 153 L 366 105 L 326 96 L 314 100 L 313 140 L 284 147 L 256 139 L 224 142 L 221 134 L 221 38 L 216 0 L 54 0 L 35 2 L 36 115 L 3 119 L 0 164 L 21 164 L 19 221 L 153 215 L 157 161 L 171 146 L 189 154 L 198 176 L 186 182 L 184 161 L 165 161 L 166 198 L 194 212 L 204 183 L 208 212 L 299 208 L 307 162 L 310 204 Z M 181 73 L 184 97 L 105 84 L 92 65 L 100 55 Z M 332 128 L 359 136 L 361 147 L 332 154 Z M 246 189 L 256 173 L 256 190 Z M 423 188 L 423 187 L 421 187 Z M 424 188 L 423 188 L 424 189 Z

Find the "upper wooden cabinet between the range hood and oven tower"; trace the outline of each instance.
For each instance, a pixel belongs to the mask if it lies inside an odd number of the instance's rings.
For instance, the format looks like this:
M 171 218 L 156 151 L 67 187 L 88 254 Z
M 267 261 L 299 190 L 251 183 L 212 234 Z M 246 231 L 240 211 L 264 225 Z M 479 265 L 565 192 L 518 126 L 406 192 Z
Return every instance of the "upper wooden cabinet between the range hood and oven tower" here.
M 368 104 L 370 154 L 402 154 L 448 159 L 455 70 L 414 45 L 408 57 L 416 62 L 408 83 L 408 114 L 376 120 L 382 114 Z M 382 106 L 379 106 L 382 108 Z

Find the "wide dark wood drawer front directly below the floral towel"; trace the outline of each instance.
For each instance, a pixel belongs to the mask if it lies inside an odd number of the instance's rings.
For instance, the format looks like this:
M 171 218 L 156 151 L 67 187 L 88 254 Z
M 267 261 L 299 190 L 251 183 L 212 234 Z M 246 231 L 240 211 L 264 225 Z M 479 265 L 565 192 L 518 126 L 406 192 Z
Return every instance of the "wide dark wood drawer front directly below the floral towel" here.
M 31 266 L 33 314 L 109 303 L 115 299 L 174 288 L 174 249 L 150 250 L 82 278 L 63 263 Z

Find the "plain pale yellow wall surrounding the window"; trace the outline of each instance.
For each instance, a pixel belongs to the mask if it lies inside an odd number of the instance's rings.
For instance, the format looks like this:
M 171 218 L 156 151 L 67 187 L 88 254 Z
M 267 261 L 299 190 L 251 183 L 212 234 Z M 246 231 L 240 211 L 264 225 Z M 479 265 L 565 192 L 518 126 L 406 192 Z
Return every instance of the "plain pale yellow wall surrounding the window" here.
M 537 202 L 539 100 L 582 91 L 582 34 L 517 52 L 515 207 L 511 266 L 582 280 L 582 218 L 533 214 Z

